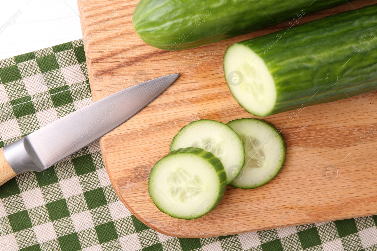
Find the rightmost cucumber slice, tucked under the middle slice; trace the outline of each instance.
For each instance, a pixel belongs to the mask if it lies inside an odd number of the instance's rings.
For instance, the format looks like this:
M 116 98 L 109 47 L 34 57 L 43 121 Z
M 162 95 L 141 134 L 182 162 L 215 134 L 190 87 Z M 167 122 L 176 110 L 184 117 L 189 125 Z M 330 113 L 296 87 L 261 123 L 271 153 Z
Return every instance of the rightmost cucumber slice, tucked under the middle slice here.
M 285 161 L 283 136 L 270 123 L 261 119 L 236 119 L 227 123 L 241 137 L 245 147 L 245 165 L 232 187 L 250 189 L 270 181 Z

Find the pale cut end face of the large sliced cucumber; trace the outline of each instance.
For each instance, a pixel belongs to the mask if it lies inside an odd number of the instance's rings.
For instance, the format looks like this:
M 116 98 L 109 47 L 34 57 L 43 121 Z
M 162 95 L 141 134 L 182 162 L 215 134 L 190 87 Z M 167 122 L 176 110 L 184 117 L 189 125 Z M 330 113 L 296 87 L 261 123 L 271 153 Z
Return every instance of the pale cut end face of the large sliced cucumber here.
M 276 103 L 275 82 L 257 53 L 243 44 L 229 46 L 224 74 L 233 97 L 248 113 L 260 117 L 271 114 Z

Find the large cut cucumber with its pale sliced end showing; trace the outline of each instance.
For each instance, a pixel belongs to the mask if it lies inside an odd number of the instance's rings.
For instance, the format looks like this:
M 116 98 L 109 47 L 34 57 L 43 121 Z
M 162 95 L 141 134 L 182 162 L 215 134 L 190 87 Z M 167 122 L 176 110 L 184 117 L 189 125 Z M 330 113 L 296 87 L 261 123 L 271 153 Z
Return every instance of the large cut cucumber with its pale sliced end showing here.
M 376 13 L 366 6 L 231 45 L 231 93 L 264 117 L 377 89 Z

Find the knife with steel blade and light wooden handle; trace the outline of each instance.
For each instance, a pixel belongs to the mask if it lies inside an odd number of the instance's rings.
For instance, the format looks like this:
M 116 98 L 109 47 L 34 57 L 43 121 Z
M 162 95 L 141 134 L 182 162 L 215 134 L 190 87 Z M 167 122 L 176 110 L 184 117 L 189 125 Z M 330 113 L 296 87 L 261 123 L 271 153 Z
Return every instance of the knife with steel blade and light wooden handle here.
M 43 171 L 130 119 L 179 77 L 133 85 L 0 148 L 0 186 L 26 170 Z

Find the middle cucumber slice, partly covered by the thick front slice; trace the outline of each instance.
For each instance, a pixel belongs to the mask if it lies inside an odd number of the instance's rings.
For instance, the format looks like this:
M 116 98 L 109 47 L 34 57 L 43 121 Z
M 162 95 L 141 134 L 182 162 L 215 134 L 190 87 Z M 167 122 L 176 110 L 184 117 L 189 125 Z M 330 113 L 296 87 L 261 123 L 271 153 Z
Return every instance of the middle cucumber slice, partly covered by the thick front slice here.
M 170 151 L 198 147 L 211 152 L 224 165 L 227 184 L 236 178 L 245 163 L 245 149 L 241 138 L 224 123 L 201 119 L 182 128 L 172 140 Z

